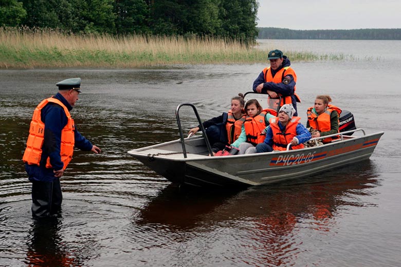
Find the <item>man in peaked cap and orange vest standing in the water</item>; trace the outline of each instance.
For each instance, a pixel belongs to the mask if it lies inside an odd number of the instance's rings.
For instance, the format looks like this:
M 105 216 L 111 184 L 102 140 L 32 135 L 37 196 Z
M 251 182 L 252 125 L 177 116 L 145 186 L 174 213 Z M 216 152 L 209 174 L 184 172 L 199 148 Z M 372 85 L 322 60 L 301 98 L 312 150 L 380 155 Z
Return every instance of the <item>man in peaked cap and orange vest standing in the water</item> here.
M 75 128 L 69 111 L 81 92 L 81 78 L 56 84 L 56 96 L 43 100 L 33 111 L 23 161 L 32 182 L 32 216 L 57 217 L 63 196 L 60 178 L 72 159 L 74 146 L 101 152 Z

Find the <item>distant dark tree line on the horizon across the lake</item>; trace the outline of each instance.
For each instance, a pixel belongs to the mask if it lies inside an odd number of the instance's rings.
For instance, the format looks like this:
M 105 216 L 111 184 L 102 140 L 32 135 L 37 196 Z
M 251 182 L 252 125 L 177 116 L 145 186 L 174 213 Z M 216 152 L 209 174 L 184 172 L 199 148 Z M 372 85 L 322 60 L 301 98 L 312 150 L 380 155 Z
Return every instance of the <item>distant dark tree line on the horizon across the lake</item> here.
M 401 29 L 290 30 L 258 28 L 258 39 L 401 40 Z

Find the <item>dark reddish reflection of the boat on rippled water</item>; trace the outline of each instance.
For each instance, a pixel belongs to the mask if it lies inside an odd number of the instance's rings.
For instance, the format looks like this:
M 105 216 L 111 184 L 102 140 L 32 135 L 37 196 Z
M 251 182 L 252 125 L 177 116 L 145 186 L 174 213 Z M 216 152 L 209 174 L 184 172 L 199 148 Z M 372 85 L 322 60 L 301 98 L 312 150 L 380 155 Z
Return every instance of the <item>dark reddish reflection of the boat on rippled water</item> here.
M 234 261 L 242 258 L 249 264 L 280 266 L 297 258 L 307 264 L 317 260 L 302 259 L 302 252 L 316 249 L 307 244 L 318 244 L 321 234 L 334 234 L 331 231 L 344 209 L 376 205 L 363 197 L 374 194 L 371 189 L 380 184 L 377 177 L 375 166 L 365 161 L 323 178 L 312 176 L 237 192 L 216 194 L 171 184 L 141 209 L 135 223 L 155 228 L 160 236 L 205 233 L 215 242 L 231 242 L 235 256 L 230 252 L 223 256 L 232 256 Z

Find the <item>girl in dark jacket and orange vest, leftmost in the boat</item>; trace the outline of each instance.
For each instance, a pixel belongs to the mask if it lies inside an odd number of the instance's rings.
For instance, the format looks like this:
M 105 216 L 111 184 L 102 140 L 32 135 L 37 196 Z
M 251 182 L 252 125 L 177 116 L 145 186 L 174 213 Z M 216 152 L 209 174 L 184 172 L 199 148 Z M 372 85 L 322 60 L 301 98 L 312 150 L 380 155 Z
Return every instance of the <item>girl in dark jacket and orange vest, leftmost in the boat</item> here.
M 244 95 L 239 93 L 238 96 L 233 97 L 231 99 L 231 109 L 226 113 L 227 120 L 224 121 L 224 113 L 221 116 L 214 117 L 210 120 L 203 122 L 203 127 L 205 129 L 209 128 L 212 125 L 216 125 L 218 123 L 225 123 L 225 129 L 227 131 L 227 140 L 218 140 L 214 143 L 211 143 L 213 155 L 219 151 L 223 150 L 226 145 L 230 145 L 235 140 L 237 140 L 241 134 L 242 124 L 245 121 L 245 112 L 244 112 Z M 195 134 L 199 130 L 199 126 L 190 129 L 189 134 Z M 210 140 L 209 140 L 210 141 Z

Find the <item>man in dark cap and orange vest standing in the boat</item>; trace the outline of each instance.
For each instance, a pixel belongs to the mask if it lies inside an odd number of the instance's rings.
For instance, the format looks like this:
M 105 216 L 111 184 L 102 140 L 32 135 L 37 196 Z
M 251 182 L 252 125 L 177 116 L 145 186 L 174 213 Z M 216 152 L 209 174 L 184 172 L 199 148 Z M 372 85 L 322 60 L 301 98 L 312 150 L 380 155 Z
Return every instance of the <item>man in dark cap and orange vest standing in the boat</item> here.
M 270 67 L 263 69 L 253 82 L 253 91 L 267 93 L 269 98 L 279 98 L 280 96 L 282 99 L 280 106 L 293 104 L 296 110 L 294 116 L 298 116 L 297 102 L 301 102 L 301 99 L 295 92 L 297 75 L 290 67 L 289 59 L 278 49 L 271 50 L 267 59 L 270 61 Z

